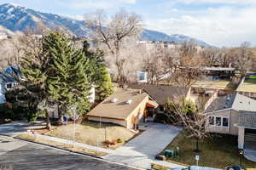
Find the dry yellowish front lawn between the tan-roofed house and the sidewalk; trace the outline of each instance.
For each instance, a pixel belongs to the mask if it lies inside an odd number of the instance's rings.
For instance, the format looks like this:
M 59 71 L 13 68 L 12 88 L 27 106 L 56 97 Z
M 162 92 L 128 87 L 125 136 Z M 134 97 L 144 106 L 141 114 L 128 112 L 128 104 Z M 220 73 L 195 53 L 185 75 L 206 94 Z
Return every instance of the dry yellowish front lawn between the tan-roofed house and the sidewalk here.
M 101 127 L 101 128 L 100 128 Z M 73 124 L 63 125 L 56 128 L 49 133 L 45 133 L 49 136 L 54 136 L 61 139 L 70 139 L 73 140 L 73 133 L 75 129 L 75 140 L 79 143 L 96 145 L 109 149 L 116 149 L 122 144 L 125 144 L 126 141 L 135 137 L 138 133 L 132 132 L 125 127 L 120 127 L 112 123 L 100 123 L 100 122 L 90 122 L 85 121 L 81 124 L 76 124 L 75 127 Z M 120 139 L 121 142 L 115 145 L 108 147 L 107 144 L 103 142 L 108 140 L 117 140 Z

